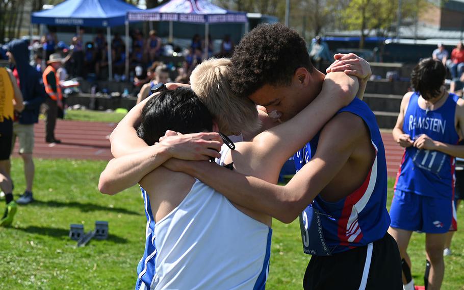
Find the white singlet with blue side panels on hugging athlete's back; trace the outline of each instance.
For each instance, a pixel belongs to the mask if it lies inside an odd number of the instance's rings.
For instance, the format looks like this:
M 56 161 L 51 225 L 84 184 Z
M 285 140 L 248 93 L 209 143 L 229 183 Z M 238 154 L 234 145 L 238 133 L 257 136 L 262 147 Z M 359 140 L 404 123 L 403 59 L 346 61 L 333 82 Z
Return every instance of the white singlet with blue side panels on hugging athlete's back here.
M 221 150 L 223 165 L 228 148 Z M 146 247 L 136 289 L 265 289 L 272 230 L 196 180 L 154 223 L 147 193 Z

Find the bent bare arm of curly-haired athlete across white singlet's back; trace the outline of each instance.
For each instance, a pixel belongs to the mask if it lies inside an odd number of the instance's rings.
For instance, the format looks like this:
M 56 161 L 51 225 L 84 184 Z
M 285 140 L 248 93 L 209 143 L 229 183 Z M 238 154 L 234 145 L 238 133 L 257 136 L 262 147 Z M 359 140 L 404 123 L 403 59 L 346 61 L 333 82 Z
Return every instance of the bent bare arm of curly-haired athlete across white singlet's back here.
M 285 186 L 231 172 L 209 162 L 181 162 L 177 167 L 179 163 L 172 160 L 165 166 L 200 179 L 236 204 L 291 223 L 347 162 L 365 138 L 364 126 L 363 120 L 351 113 L 333 117 L 321 132 L 314 158 Z

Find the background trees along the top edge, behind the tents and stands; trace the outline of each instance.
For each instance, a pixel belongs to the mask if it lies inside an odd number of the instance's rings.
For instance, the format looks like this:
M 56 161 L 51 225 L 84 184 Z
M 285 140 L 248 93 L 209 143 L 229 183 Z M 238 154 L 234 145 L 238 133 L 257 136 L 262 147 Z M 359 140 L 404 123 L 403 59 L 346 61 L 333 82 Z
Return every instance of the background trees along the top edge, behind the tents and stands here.
M 125 0 L 134 5 L 140 0 Z M 286 2 L 282 0 L 211 0 L 229 10 L 262 13 L 276 16 L 283 22 Z M 5 38 L 20 36 L 24 17 L 30 17 L 25 7 L 39 11 L 44 4 L 56 5 L 63 0 L 0 0 L 0 43 Z M 169 0 L 145 0 L 147 9 Z M 401 8 L 398 9 L 399 3 Z M 402 25 L 413 25 L 432 4 L 427 0 L 290 0 L 290 26 L 310 39 L 333 30 L 357 30 L 359 47 L 372 32 L 376 36 L 396 32 L 398 17 Z

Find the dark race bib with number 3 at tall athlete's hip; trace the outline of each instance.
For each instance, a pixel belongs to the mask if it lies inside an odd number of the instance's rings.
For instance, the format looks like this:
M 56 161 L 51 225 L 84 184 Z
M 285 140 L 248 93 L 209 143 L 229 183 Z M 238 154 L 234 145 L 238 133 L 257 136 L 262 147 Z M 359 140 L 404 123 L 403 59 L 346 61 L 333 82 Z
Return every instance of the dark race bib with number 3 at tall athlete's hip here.
M 317 209 L 308 206 L 299 215 L 303 252 L 308 255 L 331 256 L 322 232 L 321 218 L 325 218 Z

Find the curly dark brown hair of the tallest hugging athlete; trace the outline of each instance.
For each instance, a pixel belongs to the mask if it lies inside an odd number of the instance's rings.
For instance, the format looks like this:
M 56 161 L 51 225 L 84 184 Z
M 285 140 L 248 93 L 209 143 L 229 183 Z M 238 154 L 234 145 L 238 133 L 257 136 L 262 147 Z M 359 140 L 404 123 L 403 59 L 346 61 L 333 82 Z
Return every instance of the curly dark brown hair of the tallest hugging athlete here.
M 294 30 L 262 24 L 245 35 L 231 57 L 230 88 L 245 98 L 266 84 L 289 85 L 299 67 L 314 67 L 306 42 Z

